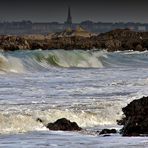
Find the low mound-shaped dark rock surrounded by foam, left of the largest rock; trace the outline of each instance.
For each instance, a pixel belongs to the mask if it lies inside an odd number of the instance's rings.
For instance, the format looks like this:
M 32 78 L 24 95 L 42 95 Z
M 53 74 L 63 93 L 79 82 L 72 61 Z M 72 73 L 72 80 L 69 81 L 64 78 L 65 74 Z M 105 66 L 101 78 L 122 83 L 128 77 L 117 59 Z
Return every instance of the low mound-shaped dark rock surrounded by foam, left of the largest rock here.
M 80 128 L 76 122 L 70 122 L 66 118 L 58 119 L 54 123 L 48 123 L 47 128 L 49 130 L 62 130 L 62 131 L 80 131 L 82 128 Z

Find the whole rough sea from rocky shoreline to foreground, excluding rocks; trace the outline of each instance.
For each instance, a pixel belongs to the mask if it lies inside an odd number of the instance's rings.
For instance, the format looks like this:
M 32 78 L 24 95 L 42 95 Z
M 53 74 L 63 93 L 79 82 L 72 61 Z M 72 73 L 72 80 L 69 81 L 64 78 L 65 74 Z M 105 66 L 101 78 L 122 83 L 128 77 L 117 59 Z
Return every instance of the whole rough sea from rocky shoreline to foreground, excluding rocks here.
M 1 51 L 0 147 L 146 148 L 147 137 L 122 137 L 117 125 L 122 108 L 143 96 L 148 51 Z M 60 118 L 83 130 L 46 128 Z M 104 128 L 118 133 L 99 135 Z

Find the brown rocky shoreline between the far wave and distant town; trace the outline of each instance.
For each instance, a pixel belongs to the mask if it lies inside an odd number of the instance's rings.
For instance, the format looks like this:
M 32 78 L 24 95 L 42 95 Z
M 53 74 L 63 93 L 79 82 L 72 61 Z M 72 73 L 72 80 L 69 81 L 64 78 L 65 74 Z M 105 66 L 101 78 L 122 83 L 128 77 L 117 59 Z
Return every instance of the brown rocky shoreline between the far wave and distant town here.
M 35 49 L 106 49 L 107 51 L 148 50 L 148 32 L 116 29 L 90 37 L 78 35 L 0 35 L 0 49 L 4 51 Z

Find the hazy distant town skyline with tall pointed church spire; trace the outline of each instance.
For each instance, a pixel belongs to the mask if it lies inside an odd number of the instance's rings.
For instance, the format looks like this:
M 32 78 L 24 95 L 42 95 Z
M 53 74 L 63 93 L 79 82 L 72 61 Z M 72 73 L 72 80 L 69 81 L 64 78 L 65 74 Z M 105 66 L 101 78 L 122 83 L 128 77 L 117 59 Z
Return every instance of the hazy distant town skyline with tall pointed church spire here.
M 104 22 L 93 22 L 90 20 L 83 21 L 81 23 L 73 23 L 71 16 L 71 9 L 68 8 L 67 20 L 64 23 L 59 22 L 0 22 L 0 35 L 21 35 L 21 34 L 48 34 L 55 32 L 62 32 L 67 28 L 75 29 L 77 26 L 81 26 L 85 30 L 92 33 L 103 33 L 114 29 L 131 29 L 133 31 L 148 31 L 147 23 L 104 23 Z

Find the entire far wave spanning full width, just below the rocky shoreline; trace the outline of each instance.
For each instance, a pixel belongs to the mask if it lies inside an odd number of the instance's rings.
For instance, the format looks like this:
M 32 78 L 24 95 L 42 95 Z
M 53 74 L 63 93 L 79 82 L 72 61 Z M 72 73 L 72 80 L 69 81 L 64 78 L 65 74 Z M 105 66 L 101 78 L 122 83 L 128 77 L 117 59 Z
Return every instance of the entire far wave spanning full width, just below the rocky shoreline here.
M 0 71 L 23 73 L 60 68 L 103 68 L 148 65 L 148 52 L 36 50 L 0 53 Z

